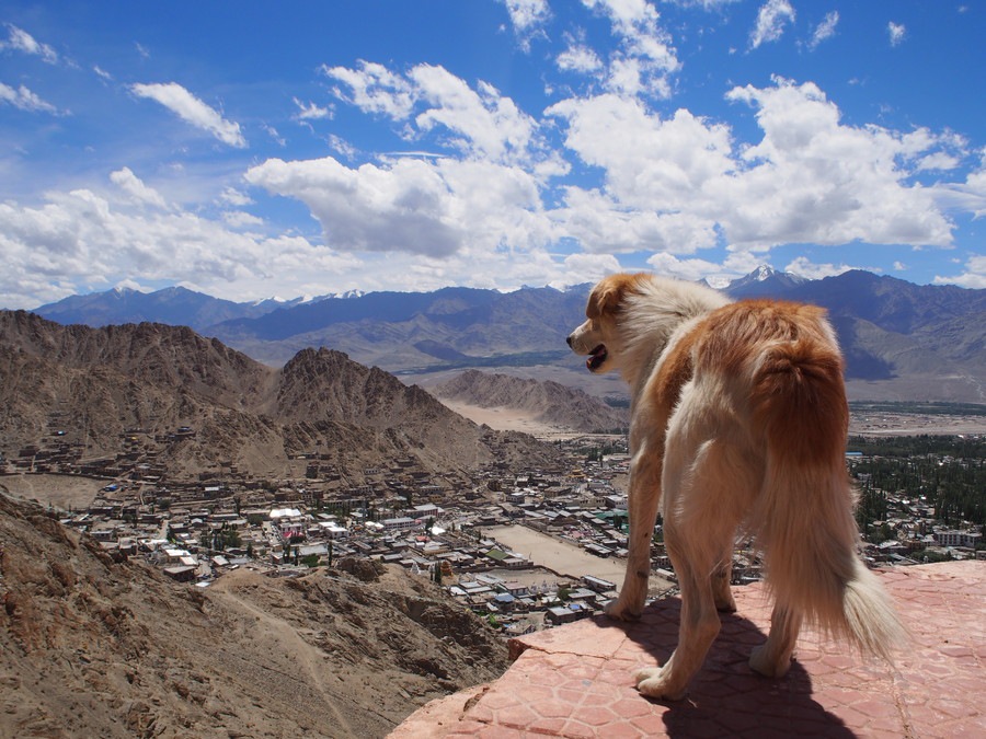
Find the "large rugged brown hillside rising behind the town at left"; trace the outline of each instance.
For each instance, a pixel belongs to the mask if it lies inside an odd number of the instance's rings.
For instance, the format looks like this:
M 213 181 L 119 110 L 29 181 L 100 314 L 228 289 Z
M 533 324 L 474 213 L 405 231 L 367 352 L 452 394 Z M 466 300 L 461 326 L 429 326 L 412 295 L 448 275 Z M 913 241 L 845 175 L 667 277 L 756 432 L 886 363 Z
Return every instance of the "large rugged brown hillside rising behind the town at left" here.
M 156 451 L 172 474 L 220 462 L 279 474 L 305 453 L 328 455 L 355 477 L 395 459 L 449 472 L 497 455 L 537 462 L 552 453 L 337 351 L 305 349 L 277 369 L 185 327 L 62 326 L 23 311 L 0 311 L 0 404 L 7 454 L 57 435 L 88 457 L 111 455 L 124 436 L 192 429 Z

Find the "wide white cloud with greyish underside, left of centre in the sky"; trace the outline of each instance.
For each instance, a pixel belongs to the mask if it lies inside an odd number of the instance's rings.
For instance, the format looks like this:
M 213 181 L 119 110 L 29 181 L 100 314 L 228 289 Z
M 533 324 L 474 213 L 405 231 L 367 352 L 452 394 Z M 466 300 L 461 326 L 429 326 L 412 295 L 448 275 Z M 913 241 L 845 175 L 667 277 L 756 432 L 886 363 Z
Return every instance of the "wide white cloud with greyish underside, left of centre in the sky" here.
M 326 244 L 344 252 L 482 258 L 541 247 L 552 230 L 531 175 L 491 162 L 400 158 L 349 169 L 331 157 L 275 159 L 245 177 L 305 203 Z

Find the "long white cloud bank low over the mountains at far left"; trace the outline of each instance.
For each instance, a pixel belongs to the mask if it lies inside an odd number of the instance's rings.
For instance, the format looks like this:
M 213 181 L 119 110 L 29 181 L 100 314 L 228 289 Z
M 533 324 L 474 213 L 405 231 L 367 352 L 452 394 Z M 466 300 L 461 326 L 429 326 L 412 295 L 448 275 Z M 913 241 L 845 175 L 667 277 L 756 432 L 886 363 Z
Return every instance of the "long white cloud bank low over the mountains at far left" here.
M 197 285 L 213 295 L 237 281 L 237 299 L 263 297 L 264 281 L 277 276 L 301 293 L 313 275 L 358 264 L 300 236 L 238 233 L 221 220 L 173 206 L 162 210 L 148 203 L 154 197 L 133 196 L 140 187 L 128 170 L 111 177 L 121 186 L 105 195 L 83 188 L 49 193 L 35 207 L 0 204 L 0 252 L 7 263 L 0 274 L 2 304 L 34 308 L 134 275 Z M 248 286 L 257 292 L 248 296 Z

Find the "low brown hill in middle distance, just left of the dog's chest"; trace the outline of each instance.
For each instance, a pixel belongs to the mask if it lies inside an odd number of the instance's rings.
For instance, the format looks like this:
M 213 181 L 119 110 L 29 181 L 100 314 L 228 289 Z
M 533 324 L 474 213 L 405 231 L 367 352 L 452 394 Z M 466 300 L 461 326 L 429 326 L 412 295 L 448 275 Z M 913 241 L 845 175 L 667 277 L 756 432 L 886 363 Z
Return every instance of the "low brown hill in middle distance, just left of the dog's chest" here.
M 438 397 L 484 408 L 514 408 L 549 426 L 574 431 L 627 428 L 629 412 L 551 380 L 467 370 L 434 389 Z

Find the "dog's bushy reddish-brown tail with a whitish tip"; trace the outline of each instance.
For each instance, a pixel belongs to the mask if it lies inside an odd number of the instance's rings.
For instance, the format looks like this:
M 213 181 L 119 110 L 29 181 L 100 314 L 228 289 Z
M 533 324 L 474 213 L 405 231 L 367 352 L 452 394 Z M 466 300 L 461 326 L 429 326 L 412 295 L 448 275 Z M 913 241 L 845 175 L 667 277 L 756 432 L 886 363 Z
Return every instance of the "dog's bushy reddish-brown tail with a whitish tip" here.
M 890 659 L 905 630 L 858 554 L 838 349 L 805 339 L 772 344 L 756 372 L 752 400 L 767 454 L 753 520 L 778 604 L 824 633 Z

